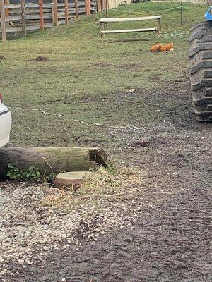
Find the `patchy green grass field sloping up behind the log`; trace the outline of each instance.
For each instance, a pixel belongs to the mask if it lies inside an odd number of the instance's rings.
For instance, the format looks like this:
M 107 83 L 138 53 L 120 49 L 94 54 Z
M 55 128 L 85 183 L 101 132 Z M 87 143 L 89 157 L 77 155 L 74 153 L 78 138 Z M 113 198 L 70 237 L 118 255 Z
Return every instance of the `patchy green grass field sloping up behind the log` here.
M 100 41 L 98 18 L 105 13 L 100 13 L 0 43 L 0 54 L 7 59 L 0 66 L 0 92 L 4 93 L 13 115 L 11 142 L 16 145 L 109 144 L 113 140 L 104 128 L 96 130 L 93 125 L 73 120 L 123 125 L 139 123 L 142 116 L 143 122 L 156 121 L 160 112 L 155 114 L 146 106 L 142 95 L 134 98 L 128 90 L 165 87 L 167 82 L 187 73 L 189 28 L 203 19 L 206 7 L 184 4 L 183 26 L 180 26 L 180 9 L 176 7 L 179 3 L 141 3 L 109 11 L 109 16 L 161 14 L 163 37 L 159 41 L 151 34 L 148 42 L 104 44 Z M 138 23 L 116 25 L 137 26 Z M 123 36 L 126 37 L 110 38 Z M 151 54 L 149 49 L 156 42 L 174 42 L 175 51 Z M 37 56 L 46 56 L 50 61 L 30 61 Z M 66 99 L 55 102 L 64 94 L 68 96 Z M 18 107 L 42 109 L 50 114 Z M 59 114 L 64 120 L 58 118 Z

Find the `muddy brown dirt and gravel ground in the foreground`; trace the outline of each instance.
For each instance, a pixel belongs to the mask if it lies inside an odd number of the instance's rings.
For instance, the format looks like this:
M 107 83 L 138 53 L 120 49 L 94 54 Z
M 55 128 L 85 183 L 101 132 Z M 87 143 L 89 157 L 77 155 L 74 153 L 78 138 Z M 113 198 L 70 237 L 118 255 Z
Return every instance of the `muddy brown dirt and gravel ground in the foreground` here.
M 41 207 L 51 188 L 0 184 L 0 281 L 212 280 L 211 124 L 196 123 L 188 85 L 135 92 L 163 114 L 105 128 L 112 159 L 143 173 L 126 197 L 67 212 Z

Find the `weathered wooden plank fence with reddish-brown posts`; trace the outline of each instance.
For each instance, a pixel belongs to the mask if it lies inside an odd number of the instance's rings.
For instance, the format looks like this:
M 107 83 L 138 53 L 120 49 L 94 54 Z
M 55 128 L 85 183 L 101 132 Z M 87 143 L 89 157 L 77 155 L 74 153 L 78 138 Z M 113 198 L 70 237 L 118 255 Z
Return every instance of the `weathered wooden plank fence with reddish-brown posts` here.
M 9 32 L 44 30 L 47 27 L 69 23 L 81 15 L 90 15 L 104 8 L 105 0 L 20 0 L 10 4 L 9 0 L 0 0 L 0 33 L 6 41 Z M 37 2 L 37 3 L 36 3 Z M 49 2 L 49 3 L 48 3 Z

